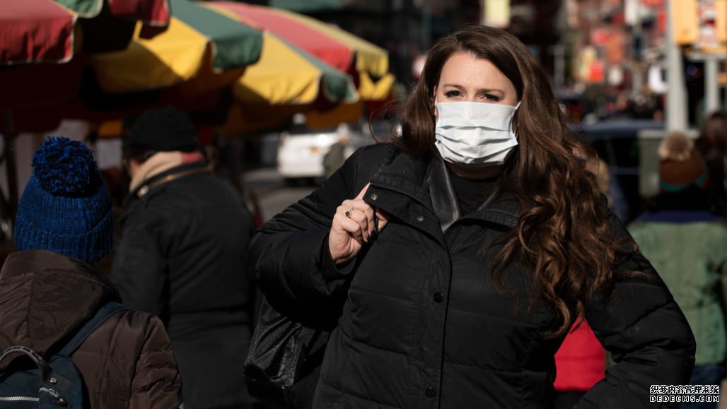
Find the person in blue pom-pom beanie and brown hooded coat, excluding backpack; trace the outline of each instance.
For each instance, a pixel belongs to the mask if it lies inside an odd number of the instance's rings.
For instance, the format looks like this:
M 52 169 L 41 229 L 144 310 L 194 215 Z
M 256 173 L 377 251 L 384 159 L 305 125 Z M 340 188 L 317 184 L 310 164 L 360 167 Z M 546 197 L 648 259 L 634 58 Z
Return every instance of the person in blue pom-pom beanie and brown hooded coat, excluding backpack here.
M 111 200 L 91 151 L 49 138 L 33 155 L 33 177 L 17 211 L 15 245 L 0 270 L 0 351 L 39 355 L 61 347 L 108 301 L 120 301 L 92 263 L 111 251 Z M 161 320 L 126 309 L 71 355 L 87 408 L 172 409 L 181 379 Z M 8 360 L 0 364 L 7 368 Z

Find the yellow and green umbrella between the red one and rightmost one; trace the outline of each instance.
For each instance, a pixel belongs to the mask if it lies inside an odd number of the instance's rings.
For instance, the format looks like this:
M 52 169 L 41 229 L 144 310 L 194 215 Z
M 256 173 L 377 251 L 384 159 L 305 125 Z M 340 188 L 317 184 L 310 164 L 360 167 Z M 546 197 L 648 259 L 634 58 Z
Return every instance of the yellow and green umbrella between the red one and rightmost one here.
M 52 109 L 17 107 L 16 127 L 39 131 L 55 129 L 62 118 L 97 122 L 165 103 L 182 109 L 209 109 L 220 103 L 220 88 L 260 59 L 262 33 L 196 2 L 169 2 L 173 16 L 166 31 L 146 39 L 144 25 L 138 23 L 126 49 L 84 55 L 58 65 L 83 68 L 83 76 L 79 73 L 76 81 L 37 76 L 45 88 L 64 87 L 67 92 L 51 101 Z M 0 82 L 3 75 L 0 72 Z M 0 108 L 1 102 L 0 96 Z

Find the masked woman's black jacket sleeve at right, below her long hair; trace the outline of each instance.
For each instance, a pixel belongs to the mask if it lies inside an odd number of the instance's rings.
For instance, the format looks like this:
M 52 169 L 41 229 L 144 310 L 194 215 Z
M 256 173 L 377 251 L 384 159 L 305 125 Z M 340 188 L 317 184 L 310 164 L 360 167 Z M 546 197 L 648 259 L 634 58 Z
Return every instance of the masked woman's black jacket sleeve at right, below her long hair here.
M 694 336 L 654 267 L 619 219 L 613 214 L 610 218 L 612 232 L 623 240 L 617 268 L 635 274 L 617 279 L 606 302 L 594 298 L 586 306 L 587 322 L 616 365 L 606 369 L 606 378 L 576 408 L 677 407 L 678 402 L 649 402 L 649 390 L 654 385 L 688 384 Z

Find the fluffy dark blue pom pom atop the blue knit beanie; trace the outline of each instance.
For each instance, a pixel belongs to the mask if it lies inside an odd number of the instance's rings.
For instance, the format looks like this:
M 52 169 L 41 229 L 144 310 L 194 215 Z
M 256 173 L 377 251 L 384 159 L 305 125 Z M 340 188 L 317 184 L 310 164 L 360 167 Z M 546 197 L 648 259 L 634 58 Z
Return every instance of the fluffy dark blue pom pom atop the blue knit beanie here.
M 49 137 L 33 155 L 33 175 L 52 195 L 79 197 L 92 193 L 98 168 L 82 142 Z

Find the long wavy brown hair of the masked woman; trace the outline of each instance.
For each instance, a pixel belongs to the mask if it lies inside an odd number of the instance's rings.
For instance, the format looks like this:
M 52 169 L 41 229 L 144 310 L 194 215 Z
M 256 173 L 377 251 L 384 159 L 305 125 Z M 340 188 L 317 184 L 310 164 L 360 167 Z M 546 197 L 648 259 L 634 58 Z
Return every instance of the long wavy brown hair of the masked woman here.
M 595 179 L 574 154 L 579 143 L 569 131 L 550 80 L 528 49 L 506 31 L 468 25 L 440 39 L 427 54 L 422 76 L 401 113 L 399 149 L 417 157 L 434 148 L 434 89 L 442 67 L 456 52 L 489 60 L 510 79 L 521 107 L 513 126 L 518 146 L 505 163 L 499 186 L 521 205 L 517 229 L 505 237 L 494 260 L 497 286 L 507 290 L 504 270 L 513 262 L 534 271 L 531 306 L 539 298 L 561 317 L 550 336 L 561 336 L 585 301 L 611 293 L 619 243 L 611 238 L 606 205 Z

